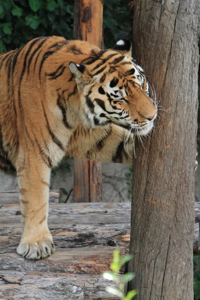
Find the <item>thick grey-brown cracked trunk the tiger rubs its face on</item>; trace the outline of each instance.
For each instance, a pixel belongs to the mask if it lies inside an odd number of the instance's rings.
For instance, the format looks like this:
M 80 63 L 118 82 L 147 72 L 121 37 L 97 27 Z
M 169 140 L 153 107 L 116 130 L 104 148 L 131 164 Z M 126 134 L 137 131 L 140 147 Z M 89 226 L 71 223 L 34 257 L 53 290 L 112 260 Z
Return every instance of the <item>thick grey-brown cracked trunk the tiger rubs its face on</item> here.
M 129 289 L 138 300 L 192 300 L 200 3 L 138 0 L 137 62 L 162 105 L 133 158 Z

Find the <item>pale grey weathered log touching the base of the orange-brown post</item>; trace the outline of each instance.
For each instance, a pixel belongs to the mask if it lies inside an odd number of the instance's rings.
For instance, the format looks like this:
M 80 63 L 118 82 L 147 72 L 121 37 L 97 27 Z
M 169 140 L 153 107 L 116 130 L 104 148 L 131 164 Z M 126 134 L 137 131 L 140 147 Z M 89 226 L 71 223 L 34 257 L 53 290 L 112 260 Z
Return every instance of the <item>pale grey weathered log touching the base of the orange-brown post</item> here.
M 75 204 L 75 203 L 74 203 Z M 78 203 L 77 203 L 78 204 Z M 83 204 L 83 203 L 82 203 Z M 85 203 L 72 206 L 69 204 L 49 205 L 49 224 L 111 224 L 130 221 L 130 203 Z M 96 205 L 97 204 L 97 205 Z M 2 205 L 0 208 L 0 223 L 10 224 L 21 221 L 20 206 L 17 204 Z

